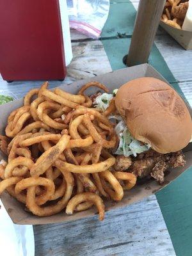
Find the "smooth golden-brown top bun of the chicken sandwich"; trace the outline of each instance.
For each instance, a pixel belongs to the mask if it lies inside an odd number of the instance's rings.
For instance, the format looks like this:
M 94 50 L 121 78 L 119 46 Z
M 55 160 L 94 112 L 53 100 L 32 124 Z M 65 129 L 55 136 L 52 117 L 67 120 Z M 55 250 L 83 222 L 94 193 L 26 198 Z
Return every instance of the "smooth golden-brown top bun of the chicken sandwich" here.
M 133 138 L 159 153 L 181 150 L 191 140 L 191 116 L 173 88 L 153 77 L 122 85 L 115 97 L 118 112 Z

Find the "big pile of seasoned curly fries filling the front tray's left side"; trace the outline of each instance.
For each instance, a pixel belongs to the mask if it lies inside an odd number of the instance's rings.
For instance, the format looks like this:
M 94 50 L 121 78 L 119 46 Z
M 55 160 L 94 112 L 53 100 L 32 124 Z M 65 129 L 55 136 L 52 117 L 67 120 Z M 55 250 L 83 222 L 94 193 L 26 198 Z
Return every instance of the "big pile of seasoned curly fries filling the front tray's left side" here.
M 43 83 L 10 113 L 6 136 L 0 135 L 0 148 L 8 154 L 8 163 L 0 163 L 0 193 L 6 189 L 36 216 L 51 216 L 65 207 L 72 214 L 95 204 L 103 220 L 100 196 L 121 200 L 123 189 L 136 183 L 131 173 L 111 172 L 115 157 L 107 148 L 117 140 L 108 116 L 116 112 L 115 99 L 104 112 L 93 108 L 95 95 L 84 95 L 90 86 L 108 92 L 98 82 L 85 84 L 78 95 L 60 88 L 51 92 Z

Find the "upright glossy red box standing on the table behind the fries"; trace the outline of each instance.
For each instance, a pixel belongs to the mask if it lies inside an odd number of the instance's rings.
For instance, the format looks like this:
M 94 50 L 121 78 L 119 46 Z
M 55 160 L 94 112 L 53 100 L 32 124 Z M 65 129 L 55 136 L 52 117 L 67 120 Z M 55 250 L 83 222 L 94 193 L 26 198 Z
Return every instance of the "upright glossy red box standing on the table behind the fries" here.
M 7 81 L 65 78 L 58 0 L 0 1 L 0 72 Z

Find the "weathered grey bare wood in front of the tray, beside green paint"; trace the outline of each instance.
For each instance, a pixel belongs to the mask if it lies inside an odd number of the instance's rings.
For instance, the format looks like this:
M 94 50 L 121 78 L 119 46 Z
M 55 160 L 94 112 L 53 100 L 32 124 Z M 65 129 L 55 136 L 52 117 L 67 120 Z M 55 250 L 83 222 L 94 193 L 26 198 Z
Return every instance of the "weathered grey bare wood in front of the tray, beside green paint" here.
M 36 256 L 175 255 L 156 196 L 106 212 L 104 221 L 95 216 L 33 228 Z

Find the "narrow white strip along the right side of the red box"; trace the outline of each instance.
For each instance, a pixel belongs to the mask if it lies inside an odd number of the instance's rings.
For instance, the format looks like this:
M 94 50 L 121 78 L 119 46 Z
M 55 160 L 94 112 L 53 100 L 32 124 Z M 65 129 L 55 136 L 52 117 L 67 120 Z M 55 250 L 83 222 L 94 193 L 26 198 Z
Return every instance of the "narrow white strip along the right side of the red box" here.
M 63 31 L 63 43 L 65 51 L 65 65 L 68 66 L 73 58 L 72 46 L 70 41 L 70 28 L 68 22 L 68 10 L 66 0 L 59 0 L 60 3 L 60 15 L 61 15 L 61 27 Z

